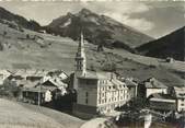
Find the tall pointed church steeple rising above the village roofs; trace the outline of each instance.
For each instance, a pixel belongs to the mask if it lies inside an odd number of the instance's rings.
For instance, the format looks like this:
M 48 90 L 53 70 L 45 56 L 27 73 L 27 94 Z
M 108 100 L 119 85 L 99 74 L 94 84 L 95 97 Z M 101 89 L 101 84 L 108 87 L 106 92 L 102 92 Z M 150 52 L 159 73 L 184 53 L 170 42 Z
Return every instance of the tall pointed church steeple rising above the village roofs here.
M 76 55 L 76 74 L 85 75 L 85 72 L 86 72 L 86 59 L 85 59 L 85 53 L 84 53 L 83 33 L 81 33 L 78 53 Z

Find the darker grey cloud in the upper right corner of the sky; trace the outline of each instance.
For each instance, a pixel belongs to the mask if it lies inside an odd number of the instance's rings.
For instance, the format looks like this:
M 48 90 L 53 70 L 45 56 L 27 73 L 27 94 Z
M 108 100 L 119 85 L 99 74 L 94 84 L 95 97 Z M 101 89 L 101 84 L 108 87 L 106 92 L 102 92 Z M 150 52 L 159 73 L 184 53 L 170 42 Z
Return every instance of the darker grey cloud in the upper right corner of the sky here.
M 184 2 L 150 2 L 147 4 L 150 5 L 149 11 L 129 15 L 130 19 L 143 18 L 154 24 L 152 30 L 148 30 L 144 33 L 158 38 L 185 25 Z

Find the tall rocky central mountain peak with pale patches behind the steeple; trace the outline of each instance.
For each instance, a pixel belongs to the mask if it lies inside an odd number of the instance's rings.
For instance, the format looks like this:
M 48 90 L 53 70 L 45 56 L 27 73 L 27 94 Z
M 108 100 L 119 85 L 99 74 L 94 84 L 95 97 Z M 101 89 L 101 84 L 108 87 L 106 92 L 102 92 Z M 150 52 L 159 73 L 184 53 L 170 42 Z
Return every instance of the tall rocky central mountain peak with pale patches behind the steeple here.
M 88 9 L 60 16 L 46 26 L 48 33 L 68 36 L 78 39 L 83 32 L 88 42 L 106 47 L 125 48 L 132 51 L 135 47 L 152 40 L 129 26 L 126 26 L 108 16 L 99 15 Z

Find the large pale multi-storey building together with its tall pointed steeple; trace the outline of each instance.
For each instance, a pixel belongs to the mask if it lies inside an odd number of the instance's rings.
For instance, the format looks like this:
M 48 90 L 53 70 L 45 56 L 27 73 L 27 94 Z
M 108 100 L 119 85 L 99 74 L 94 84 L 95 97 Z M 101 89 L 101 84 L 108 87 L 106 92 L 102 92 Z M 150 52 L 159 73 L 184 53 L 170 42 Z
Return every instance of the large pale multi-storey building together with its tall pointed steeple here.
M 106 115 L 130 100 L 126 83 L 114 73 L 86 71 L 83 34 L 76 55 L 73 89 L 77 91 L 73 114 L 83 118 Z

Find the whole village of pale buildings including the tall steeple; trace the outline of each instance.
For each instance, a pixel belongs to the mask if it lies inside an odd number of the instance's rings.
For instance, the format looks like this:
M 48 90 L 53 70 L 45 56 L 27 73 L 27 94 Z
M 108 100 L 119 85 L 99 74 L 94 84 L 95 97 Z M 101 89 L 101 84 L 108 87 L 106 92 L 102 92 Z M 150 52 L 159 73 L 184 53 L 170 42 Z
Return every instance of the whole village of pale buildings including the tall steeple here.
M 62 69 L 0 70 L 0 95 L 61 112 L 68 109 L 83 119 L 111 117 L 120 127 L 143 121 L 144 128 L 149 128 L 152 121 L 170 124 L 172 120 L 185 127 L 183 85 L 166 86 L 155 78 L 138 82 L 114 72 L 86 70 L 82 33 L 74 61 L 76 70 L 71 74 Z

